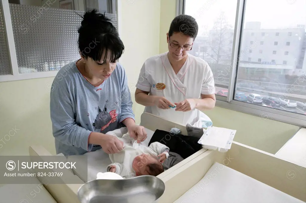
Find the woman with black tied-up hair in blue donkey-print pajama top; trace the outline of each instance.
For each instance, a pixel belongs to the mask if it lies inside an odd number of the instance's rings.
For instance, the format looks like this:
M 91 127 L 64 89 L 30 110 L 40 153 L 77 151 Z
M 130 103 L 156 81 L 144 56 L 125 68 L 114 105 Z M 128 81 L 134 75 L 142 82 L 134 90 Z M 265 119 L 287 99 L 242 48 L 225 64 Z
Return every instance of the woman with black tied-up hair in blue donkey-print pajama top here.
M 80 59 L 62 67 L 50 94 L 50 114 L 56 153 L 80 155 L 102 147 L 117 153 L 123 143 L 108 131 L 126 126 L 144 141 L 135 124 L 125 69 L 117 60 L 124 45 L 110 19 L 96 10 L 84 14 L 79 33 Z

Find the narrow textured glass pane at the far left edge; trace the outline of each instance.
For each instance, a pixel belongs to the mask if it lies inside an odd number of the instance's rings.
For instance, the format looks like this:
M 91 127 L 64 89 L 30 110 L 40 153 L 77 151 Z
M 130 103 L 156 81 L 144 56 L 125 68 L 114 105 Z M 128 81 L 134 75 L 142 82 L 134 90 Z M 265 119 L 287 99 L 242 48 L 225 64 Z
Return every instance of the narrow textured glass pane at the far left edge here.
M 6 39 L 6 29 L 0 4 L 0 75 L 12 75 L 12 69 L 9 60 L 9 49 Z

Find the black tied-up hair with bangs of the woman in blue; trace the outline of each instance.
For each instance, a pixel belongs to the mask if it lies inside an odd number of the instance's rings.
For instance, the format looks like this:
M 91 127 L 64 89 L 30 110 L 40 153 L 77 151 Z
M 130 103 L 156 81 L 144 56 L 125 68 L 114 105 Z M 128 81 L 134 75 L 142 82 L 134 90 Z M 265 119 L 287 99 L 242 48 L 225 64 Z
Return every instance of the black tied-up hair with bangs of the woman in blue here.
M 98 13 L 96 9 L 85 12 L 81 17 L 83 20 L 78 29 L 78 44 L 84 58 L 90 57 L 94 61 L 100 61 L 105 51 L 104 60 L 106 60 L 109 50 L 110 62 L 116 62 L 125 47 L 110 19 L 105 17 L 105 14 Z

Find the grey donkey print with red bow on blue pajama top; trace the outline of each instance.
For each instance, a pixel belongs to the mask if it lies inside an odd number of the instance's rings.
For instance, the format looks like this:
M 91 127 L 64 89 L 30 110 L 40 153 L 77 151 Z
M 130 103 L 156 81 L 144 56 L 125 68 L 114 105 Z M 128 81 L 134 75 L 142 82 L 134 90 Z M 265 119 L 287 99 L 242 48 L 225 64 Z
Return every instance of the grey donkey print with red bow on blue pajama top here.
M 98 114 L 95 118 L 95 122 L 92 124 L 95 127 L 95 132 L 107 133 L 111 129 L 118 126 L 116 109 L 107 112 L 106 105 L 103 109 L 98 106 Z

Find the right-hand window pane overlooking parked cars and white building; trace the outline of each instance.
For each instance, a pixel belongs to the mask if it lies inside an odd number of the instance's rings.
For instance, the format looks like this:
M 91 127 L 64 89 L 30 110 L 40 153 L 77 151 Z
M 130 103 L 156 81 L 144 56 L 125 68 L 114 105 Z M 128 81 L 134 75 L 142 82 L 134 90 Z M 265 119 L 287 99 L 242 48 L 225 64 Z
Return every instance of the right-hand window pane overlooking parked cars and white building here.
M 234 99 L 306 115 L 305 10 L 305 1 L 246 1 Z

